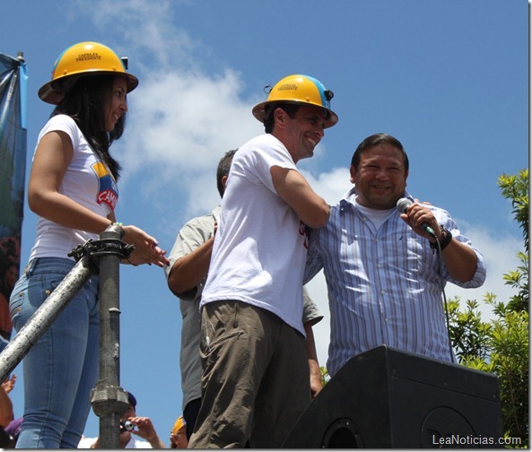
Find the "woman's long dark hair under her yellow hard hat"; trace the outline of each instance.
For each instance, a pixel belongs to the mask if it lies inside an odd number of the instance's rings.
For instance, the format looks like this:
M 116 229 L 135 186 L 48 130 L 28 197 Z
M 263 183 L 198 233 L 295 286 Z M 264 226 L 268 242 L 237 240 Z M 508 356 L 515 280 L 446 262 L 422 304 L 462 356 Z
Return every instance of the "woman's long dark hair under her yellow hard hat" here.
M 112 175 L 118 180 L 121 166 L 109 154 L 109 146 L 124 133 L 126 112 L 118 119 L 111 132 L 105 128 L 106 106 L 112 101 L 115 75 L 90 75 L 80 77 L 51 116 L 68 115 L 82 131 L 85 139 L 100 155 Z

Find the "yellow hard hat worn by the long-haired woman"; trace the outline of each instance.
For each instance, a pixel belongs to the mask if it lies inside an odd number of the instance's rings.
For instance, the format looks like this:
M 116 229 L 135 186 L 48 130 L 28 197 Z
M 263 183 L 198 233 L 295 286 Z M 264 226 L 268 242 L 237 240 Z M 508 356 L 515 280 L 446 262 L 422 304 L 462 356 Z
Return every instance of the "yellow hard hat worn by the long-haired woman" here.
M 57 57 L 52 68 L 52 80 L 42 85 L 39 89 L 39 98 L 45 102 L 57 105 L 65 93 L 79 77 L 99 74 L 121 74 L 126 78 L 127 92 L 135 90 L 138 79 L 135 75 L 126 73 L 124 61 L 107 46 L 99 42 L 80 42 L 74 44 Z

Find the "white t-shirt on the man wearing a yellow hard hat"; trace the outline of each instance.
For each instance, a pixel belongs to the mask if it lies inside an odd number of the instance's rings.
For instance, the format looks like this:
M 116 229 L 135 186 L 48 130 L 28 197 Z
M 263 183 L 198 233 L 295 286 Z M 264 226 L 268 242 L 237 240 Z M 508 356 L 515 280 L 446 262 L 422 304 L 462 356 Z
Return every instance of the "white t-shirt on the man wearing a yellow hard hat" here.
M 267 309 L 304 335 L 305 225 L 277 195 L 270 169 L 296 170 L 283 143 L 259 135 L 235 153 L 200 307 L 240 300 Z

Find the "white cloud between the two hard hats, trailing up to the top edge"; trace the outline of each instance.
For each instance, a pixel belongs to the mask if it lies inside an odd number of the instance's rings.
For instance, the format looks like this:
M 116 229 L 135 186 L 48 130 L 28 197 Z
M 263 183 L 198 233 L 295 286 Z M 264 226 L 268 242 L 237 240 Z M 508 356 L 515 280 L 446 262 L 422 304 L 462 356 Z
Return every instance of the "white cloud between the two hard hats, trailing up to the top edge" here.
M 121 33 L 126 53 L 134 56 L 130 71 L 140 79 L 128 96 L 126 134 L 113 146 L 124 166 L 121 187 L 138 190 L 161 229 L 174 230 L 218 204 L 218 161 L 264 133 L 250 114 L 261 97 L 243 98 L 238 71 L 201 69 L 210 50 L 175 26 L 169 2 L 119 5 L 99 2 L 94 9 L 100 27 L 112 25 Z

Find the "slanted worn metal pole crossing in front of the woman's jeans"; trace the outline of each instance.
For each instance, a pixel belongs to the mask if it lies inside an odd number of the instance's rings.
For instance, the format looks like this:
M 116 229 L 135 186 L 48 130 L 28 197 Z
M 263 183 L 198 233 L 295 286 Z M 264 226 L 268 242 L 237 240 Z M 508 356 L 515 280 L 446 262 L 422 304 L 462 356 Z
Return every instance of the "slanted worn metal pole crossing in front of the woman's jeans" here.
M 83 256 L 78 260 L 74 268 L 50 293 L 13 339 L 7 343 L 4 351 L 0 353 L 0 381 L 4 381 L 17 364 L 22 361 L 33 344 L 37 343 L 40 337 L 46 333 L 48 327 L 52 325 L 57 316 L 61 314 L 76 293 L 83 288 L 85 282 L 89 281 L 96 270 L 96 265 L 92 263 L 89 257 Z

